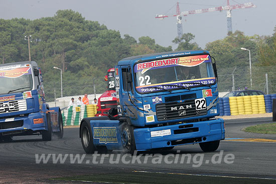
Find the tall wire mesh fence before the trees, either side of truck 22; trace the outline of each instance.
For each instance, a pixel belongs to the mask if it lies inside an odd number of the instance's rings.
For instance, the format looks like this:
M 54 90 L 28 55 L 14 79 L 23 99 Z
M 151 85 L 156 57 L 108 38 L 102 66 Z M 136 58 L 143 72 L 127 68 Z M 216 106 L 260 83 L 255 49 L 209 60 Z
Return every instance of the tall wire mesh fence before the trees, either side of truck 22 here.
M 276 93 L 276 67 L 252 67 L 250 83 L 249 67 L 234 67 L 218 70 L 218 90 L 219 92 L 228 92 L 238 88 L 260 90 L 268 94 Z M 107 83 L 103 76 L 91 78 L 91 80 L 62 79 L 63 97 L 76 96 L 83 94 L 101 94 L 106 91 Z M 45 95 L 47 102 L 54 101 L 55 98 L 61 97 L 61 82 L 44 81 Z

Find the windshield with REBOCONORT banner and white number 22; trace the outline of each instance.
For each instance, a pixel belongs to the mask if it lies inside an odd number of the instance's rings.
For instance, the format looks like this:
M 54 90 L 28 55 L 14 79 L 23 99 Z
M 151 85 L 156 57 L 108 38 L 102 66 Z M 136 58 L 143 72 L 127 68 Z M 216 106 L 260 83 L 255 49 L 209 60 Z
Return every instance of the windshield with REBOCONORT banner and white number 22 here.
M 212 85 L 215 75 L 209 55 L 187 56 L 138 63 L 134 66 L 137 92 Z

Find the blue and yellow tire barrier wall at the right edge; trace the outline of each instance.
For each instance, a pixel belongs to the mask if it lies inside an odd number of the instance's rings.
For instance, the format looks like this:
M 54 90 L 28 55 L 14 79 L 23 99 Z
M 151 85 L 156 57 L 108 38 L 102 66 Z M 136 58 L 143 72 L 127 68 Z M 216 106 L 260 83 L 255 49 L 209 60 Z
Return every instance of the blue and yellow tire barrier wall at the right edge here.
M 273 99 L 276 94 L 219 98 L 220 116 L 270 113 Z

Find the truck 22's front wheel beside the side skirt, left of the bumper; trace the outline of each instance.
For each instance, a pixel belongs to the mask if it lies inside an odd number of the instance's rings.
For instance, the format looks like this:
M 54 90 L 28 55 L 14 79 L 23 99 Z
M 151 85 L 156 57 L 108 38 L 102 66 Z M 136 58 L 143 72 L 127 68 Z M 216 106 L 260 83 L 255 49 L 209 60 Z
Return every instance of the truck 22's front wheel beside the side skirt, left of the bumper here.
M 128 125 L 126 122 L 123 122 L 121 128 L 121 143 L 126 153 L 133 154 L 136 150 L 133 126 Z

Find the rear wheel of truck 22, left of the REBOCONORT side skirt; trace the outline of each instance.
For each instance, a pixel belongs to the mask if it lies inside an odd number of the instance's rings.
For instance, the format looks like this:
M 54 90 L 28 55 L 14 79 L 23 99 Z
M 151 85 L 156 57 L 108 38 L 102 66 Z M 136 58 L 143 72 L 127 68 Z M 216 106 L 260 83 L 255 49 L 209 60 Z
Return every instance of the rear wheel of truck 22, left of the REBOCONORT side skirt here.
M 92 130 L 86 120 L 84 120 L 84 122 L 81 124 L 80 138 L 81 138 L 81 144 L 82 144 L 84 151 L 87 154 L 94 153 L 96 148 L 93 144 L 93 134 L 92 134 Z

